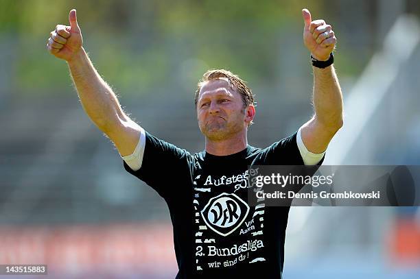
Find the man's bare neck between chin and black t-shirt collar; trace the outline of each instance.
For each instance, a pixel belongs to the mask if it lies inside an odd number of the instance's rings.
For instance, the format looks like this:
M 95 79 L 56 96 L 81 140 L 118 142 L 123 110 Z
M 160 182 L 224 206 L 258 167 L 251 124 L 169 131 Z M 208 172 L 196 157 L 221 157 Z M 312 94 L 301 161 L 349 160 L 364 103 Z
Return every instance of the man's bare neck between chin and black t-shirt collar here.
M 223 141 L 211 141 L 206 138 L 206 151 L 216 156 L 227 156 L 240 152 L 246 148 L 248 140 L 246 134 L 228 138 Z

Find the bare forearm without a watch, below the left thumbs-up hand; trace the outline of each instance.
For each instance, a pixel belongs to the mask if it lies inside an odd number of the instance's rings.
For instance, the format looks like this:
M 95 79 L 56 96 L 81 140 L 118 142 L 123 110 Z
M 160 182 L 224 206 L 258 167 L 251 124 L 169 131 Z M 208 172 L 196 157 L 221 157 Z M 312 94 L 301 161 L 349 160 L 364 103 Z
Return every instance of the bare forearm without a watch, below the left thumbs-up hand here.
M 124 118 L 117 97 L 97 73 L 83 48 L 67 63 L 84 110 L 98 128 L 106 132 L 108 125 Z

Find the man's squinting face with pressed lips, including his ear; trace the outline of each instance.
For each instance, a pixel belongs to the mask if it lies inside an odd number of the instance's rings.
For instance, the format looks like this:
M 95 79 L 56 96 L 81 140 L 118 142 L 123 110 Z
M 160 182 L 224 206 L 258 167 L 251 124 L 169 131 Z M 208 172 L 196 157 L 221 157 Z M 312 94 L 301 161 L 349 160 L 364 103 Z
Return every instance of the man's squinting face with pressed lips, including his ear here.
M 244 108 L 240 93 L 226 79 L 210 80 L 202 86 L 197 101 L 198 126 L 212 141 L 222 141 L 243 132 L 254 113 Z

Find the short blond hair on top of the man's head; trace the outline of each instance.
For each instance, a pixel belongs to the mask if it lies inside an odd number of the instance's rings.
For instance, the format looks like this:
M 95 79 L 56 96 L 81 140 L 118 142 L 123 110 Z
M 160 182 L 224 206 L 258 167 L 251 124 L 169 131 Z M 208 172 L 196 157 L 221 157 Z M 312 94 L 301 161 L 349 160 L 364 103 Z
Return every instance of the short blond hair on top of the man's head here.
M 246 85 L 244 80 L 241 80 L 239 76 L 235 75 L 231 71 L 224 69 L 212 69 L 202 75 L 201 80 L 197 84 L 196 96 L 194 99 L 196 106 L 198 103 L 198 95 L 200 94 L 202 86 L 209 80 L 217 80 L 219 78 L 226 78 L 229 82 L 229 86 L 231 86 L 233 90 L 237 90 L 237 92 L 240 93 L 242 101 L 244 102 L 244 108 L 254 104 L 253 92 Z

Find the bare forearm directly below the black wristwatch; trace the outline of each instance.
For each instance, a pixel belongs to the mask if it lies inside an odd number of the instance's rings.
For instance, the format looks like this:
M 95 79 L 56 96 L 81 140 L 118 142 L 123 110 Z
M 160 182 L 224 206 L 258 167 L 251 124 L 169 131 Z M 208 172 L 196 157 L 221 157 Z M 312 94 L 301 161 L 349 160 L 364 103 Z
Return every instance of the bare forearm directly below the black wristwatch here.
M 342 126 L 342 93 L 334 66 L 314 69 L 315 117 L 331 130 Z

